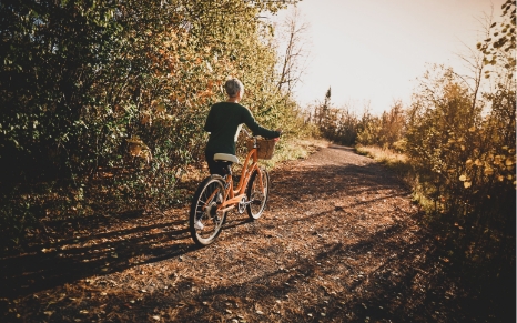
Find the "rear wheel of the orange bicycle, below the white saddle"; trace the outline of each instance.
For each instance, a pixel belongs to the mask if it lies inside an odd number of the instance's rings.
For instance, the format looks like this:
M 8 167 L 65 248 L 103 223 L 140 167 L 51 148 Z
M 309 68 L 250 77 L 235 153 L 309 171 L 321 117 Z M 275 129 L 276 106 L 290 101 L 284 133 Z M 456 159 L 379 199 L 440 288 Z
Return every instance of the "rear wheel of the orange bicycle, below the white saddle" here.
M 189 226 L 192 239 L 199 245 L 209 245 L 215 241 L 226 216 L 217 213 L 217 205 L 223 203 L 224 180 L 220 175 L 206 178 L 197 186 L 192 200 Z

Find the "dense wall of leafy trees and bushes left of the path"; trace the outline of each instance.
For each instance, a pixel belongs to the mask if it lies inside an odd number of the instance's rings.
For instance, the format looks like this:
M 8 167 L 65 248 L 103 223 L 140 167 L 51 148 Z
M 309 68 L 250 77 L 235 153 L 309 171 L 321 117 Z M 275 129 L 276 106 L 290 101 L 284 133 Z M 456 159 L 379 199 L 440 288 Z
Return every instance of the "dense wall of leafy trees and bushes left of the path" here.
M 260 122 L 301 133 L 296 104 L 275 92 L 270 26 L 257 19 L 284 7 L 2 1 L 0 231 L 23 223 L 14 239 L 43 216 L 173 202 L 178 175 L 203 160 L 204 120 L 229 75 L 244 82 Z M 43 186 L 62 199 L 48 203 Z

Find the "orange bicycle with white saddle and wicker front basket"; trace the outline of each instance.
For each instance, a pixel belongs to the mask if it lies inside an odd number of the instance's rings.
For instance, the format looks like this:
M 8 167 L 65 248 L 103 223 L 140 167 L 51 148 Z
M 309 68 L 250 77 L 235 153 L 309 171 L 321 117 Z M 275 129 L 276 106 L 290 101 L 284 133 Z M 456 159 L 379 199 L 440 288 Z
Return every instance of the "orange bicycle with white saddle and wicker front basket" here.
M 189 226 L 192 239 L 197 245 L 209 245 L 215 241 L 226 220 L 229 211 L 236 209 L 239 214 L 245 211 L 252 221 L 262 216 L 270 193 L 270 174 L 266 169 L 258 166 L 258 153 L 261 159 L 271 159 L 274 143 L 267 142 L 268 151 L 260 151 L 257 137 L 251 135 L 242 129 L 253 141 L 249 141 L 249 152 L 242 166 L 239 184 L 234 189 L 232 164 L 239 163 L 233 154 L 216 153 L 214 160 L 227 161 L 231 164 L 224 176 L 212 174 L 204 179 L 192 200 Z M 265 144 L 264 144 L 265 145 Z M 271 147 L 272 145 L 272 147 Z

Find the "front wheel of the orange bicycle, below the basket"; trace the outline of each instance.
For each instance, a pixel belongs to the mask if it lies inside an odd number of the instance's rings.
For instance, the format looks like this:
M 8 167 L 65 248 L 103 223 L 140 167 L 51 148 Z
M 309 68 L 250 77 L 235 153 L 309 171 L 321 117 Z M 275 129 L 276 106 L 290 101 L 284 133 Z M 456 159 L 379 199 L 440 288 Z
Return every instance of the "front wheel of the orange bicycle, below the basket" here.
M 250 202 L 246 205 L 247 215 L 252 220 L 261 218 L 267 203 L 267 196 L 270 195 L 270 174 L 265 169 L 253 172 L 247 183 L 246 195 Z

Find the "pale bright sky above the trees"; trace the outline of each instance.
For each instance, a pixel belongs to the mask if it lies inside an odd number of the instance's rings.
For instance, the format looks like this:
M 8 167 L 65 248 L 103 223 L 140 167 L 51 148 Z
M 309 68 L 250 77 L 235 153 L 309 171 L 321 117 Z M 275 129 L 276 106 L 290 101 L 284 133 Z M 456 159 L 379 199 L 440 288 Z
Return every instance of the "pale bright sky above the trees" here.
M 467 74 L 458 54 L 484 39 L 485 17 L 501 14 L 505 0 L 302 0 L 310 28 L 310 55 L 295 98 L 323 101 L 331 88 L 334 107 L 381 114 L 396 100 L 407 105 L 429 64 Z M 283 10 L 273 21 L 288 14 Z

